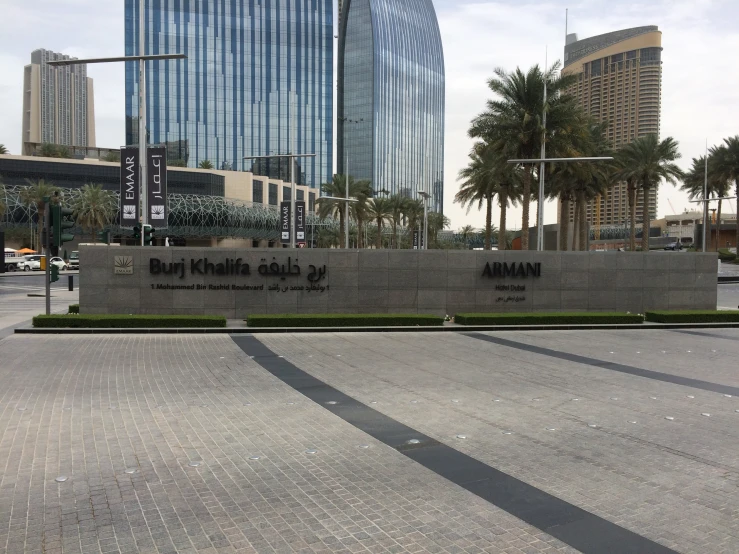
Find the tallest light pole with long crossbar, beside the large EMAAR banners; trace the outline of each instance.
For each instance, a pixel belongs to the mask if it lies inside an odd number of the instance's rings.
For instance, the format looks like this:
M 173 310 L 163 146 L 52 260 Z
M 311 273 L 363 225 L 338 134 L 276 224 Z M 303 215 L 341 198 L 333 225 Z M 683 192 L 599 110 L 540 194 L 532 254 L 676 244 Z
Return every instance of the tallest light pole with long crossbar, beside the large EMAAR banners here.
M 144 0 L 139 0 L 139 55 L 119 56 L 115 58 L 89 58 L 86 60 L 57 60 L 47 62 L 51 66 L 82 65 L 93 63 L 115 63 L 115 62 L 139 62 L 139 175 L 141 181 L 141 224 L 148 225 L 149 213 L 147 212 L 148 188 L 146 181 L 146 62 L 149 60 L 184 60 L 185 54 L 156 54 L 145 55 L 146 50 L 146 17 L 144 13 Z M 146 233 L 141 232 L 141 246 L 144 245 Z

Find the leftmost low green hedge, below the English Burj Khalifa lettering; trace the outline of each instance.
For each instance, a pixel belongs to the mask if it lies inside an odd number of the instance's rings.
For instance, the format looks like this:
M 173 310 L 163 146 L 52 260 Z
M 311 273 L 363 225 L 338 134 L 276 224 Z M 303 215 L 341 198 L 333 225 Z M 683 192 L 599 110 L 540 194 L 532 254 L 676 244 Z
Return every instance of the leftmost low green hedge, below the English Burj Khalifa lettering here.
M 211 315 L 38 315 L 33 318 L 37 328 L 75 329 L 132 329 L 132 328 L 185 328 L 225 327 L 226 318 Z

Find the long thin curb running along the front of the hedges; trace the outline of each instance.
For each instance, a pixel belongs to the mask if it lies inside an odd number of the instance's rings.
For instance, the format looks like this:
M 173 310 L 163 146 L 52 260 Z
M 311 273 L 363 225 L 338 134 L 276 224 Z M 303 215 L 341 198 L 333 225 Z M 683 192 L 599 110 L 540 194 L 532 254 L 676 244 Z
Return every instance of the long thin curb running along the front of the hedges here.
M 152 335 L 277 333 L 467 333 L 478 331 L 603 331 L 603 330 L 739 329 L 739 322 L 727 323 L 642 323 L 596 325 L 458 325 L 443 327 L 205 327 L 131 329 L 16 329 L 20 335 Z

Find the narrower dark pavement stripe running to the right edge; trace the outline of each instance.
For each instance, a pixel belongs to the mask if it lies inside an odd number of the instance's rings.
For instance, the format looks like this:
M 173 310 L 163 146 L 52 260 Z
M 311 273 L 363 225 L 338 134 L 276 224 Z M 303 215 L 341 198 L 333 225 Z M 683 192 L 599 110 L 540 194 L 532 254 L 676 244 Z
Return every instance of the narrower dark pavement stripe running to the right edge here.
M 567 360 L 568 362 L 575 362 L 583 365 L 590 365 L 599 367 L 601 369 L 608 369 L 611 371 L 618 371 L 620 373 L 627 373 L 629 375 L 635 375 L 637 377 L 644 377 L 645 379 L 654 379 L 656 381 L 664 381 L 665 383 L 673 383 L 675 385 L 683 385 L 685 387 L 692 387 L 694 389 L 707 390 L 711 392 L 718 392 L 721 394 L 731 394 L 733 396 L 739 396 L 739 387 L 732 387 L 729 385 L 722 385 L 720 383 L 712 383 L 710 381 L 701 381 L 700 379 L 691 379 L 690 377 L 680 377 L 679 375 L 670 375 L 669 373 L 661 373 L 659 371 L 652 371 L 651 369 L 642 369 L 640 367 L 634 367 L 630 365 L 617 364 L 615 362 L 609 362 L 606 360 L 599 360 L 597 358 L 589 358 L 587 356 L 580 356 L 579 354 L 570 354 L 569 352 L 561 352 L 559 350 L 552 350 L 551 348 L 544 348 L 542 346 L 533 346 L 531 344 L 525 344 L 522 342 L 516 342 L 510 339 L 503 339 L 500 337 L 491 337 L 489 335 L 483 335 L 480 333 L 466 333 L 466 336 L 483 340 L 486 342 L 492 342 L 500 346 L 508 346 L 509 348 L 515 348 L 517 350 L 524 350 L 526 352 L 533 352 L 535 354 L 541 354 L 542 356 L 549 356 L 550 358 L 558 358 L 560 360 Z

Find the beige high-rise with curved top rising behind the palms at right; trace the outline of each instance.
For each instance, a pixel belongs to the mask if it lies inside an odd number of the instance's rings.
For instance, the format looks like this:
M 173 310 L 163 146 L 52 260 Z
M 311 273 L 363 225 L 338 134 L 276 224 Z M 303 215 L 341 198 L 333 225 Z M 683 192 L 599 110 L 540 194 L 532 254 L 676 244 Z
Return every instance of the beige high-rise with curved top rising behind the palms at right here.
M 662 101 L 662 32 L 656 26 L 635 27 L 578 40 L 567 35 L 563 74 L 579 81 L 570 92 L 597 121 L 608 122 L 606 135 L 618 148 L 649 134 L 659 135 Z M 650 193 L 651 219 L 657 217 L 657 190 Z M 588 204 L 591 225 L 620 226 L 629 221 L 626 184 L 601 197 L 600 213 Z M 636 207 L 642 221 L 643 201 Z M 570 221 L 574 213 L 570 212 Z M 558 217 L 559 219 L 559 217 Z

